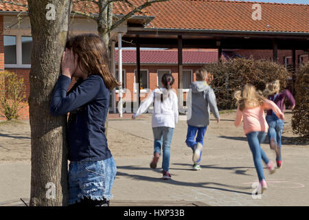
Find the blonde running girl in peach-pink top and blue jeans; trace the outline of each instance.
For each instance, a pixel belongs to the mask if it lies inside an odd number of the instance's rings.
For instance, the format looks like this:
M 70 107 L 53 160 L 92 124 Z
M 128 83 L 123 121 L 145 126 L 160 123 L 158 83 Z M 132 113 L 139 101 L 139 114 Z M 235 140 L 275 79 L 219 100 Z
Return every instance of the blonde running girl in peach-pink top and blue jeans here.
M 264 110 L 273 110 L 277 117 L 283 120 L 284 113 L 274 102 L 261 96 L 253 85 L 245 85 L 241 91 L 236 91 L 234 97 L 238 104 L 234 124 L 235 126 L 240 126 L 242 120 L 244 121 L 244 133 L 247 136 L 253 155 L 254 166 L 258 173 L 258 193 L 263 193 L 267 188 L 267 184 L 264 177 L 262 160 L 267 164 L 270 173 L 275 172 L 274 162 L 268 159 L 260 146 L 264 142 L 268 131 Z

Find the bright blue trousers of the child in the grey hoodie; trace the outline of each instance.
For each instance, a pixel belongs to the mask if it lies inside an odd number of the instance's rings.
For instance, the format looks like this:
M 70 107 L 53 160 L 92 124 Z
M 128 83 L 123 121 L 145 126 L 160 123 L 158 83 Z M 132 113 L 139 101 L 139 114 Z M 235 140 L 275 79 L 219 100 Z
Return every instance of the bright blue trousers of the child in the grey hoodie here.
M 193 150 L 193 147 L 194 145 L 197 144 L 197 142 L 203 145 L 206 130 L 207 130 L 207 126 L 191 126 L 188 124 L 187 125 L 187 138 L 185 140 L 185 143 L 187 144 L 187 146 L 189 146 Z M 197 132 L 197 135 L 196 135 L 196 132 Z M 196 139 L 195 139 L 195 136 L 196 136 Z M 197 164 L 201 162 L 201 156 L 202 156 L 202 152 L 201 152 L 200 158 L 196 162 Z

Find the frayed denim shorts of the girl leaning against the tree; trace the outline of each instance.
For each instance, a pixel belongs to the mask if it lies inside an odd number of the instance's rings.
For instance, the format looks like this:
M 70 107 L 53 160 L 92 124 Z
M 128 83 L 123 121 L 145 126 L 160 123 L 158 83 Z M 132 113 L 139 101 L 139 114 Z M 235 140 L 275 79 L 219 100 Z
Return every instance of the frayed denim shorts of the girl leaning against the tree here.
M 109 201 L 116 173 L 113 157 L 96 162 L 70 162 L 69 205 L 84 197 Z

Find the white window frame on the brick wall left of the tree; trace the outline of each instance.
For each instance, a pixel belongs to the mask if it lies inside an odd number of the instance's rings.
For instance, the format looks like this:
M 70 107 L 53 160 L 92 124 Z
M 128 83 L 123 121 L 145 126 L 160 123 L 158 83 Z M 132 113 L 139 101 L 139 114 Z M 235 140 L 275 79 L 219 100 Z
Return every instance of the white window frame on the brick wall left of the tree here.
M 23 64 L 22 41 L 23 36 L 32 37 L 29 30 L 9 30 L 3 36 L 16 36 L 16 64 L 4 64 L 4 68 L 25 68 L 30 69 L 31 64 Z M 5 56 L 5 54 L 4 54 Z

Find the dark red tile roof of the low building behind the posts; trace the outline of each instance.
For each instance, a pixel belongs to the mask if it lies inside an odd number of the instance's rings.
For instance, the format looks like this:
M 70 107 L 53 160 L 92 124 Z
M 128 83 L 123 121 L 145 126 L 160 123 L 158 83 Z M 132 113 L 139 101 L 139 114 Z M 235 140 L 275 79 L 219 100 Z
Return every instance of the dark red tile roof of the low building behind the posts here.
M 223 55 L 225 53 L 223 52 Z M 225 56 L 222 56 L 225 60 Z M 183 64 L 216 63 L 218 51 L 183 51 Z M 136 50 L 122 50 L 122 62 L 136 63 Z M 118 50 L 116 50 L 116 63 L 118 63 Z M 141 64 L 177 64 L 178 52 L 175 50 L 141 50 Z

